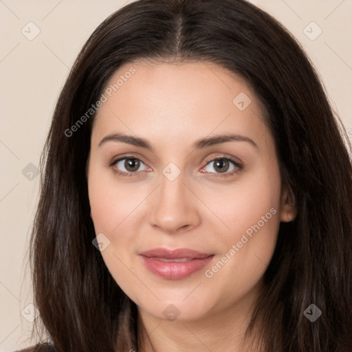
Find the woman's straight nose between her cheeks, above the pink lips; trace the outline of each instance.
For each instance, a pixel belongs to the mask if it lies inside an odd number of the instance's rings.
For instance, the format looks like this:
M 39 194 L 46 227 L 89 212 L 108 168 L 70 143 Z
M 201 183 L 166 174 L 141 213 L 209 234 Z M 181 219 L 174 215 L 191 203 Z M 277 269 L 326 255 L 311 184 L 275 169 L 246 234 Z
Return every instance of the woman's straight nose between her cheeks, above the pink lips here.
M 199 200 L 182 173 L 173 181 L 162 174 L 160 185 L 153 192 L 151 225 L 168 234 L 187 232 L 201 222 L 197 206 Z

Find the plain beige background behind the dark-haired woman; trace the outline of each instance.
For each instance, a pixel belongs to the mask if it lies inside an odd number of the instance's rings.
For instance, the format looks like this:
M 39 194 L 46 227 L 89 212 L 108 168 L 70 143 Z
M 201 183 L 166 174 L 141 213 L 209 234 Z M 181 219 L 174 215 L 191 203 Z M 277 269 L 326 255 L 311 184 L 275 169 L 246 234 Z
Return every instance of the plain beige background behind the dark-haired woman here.
M 273 14 L 303 44 L 352 140 L 352 1 L 252 2 Z M 124 3 L 0 0 L 1 352 L 23 347 L 32 327 L 28 319 L 34 310 L 28 306 L 32 296 L 25 265 L 39 190 L 35 166 L 56 98 L 83 43 Z M 31 21 L 40 30 L 32 41 L 21 32 L 24 28 L 27 36 L 35 34 L 34 25 L 28 25 Z M 318 27 L 309 24 L 312 21 Z M 322 33 L 311 40 L 319 28 Z

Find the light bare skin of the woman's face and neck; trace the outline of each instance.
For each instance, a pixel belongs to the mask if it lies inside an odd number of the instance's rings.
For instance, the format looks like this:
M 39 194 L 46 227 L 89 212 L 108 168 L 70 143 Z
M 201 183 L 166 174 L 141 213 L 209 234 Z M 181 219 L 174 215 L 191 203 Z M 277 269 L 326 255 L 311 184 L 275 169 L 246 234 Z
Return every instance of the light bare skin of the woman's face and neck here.
M 126 63 L 107 86 L 130 67 L 135 74 L 96 115 L 87 179 L 96 234 L 110 241 L 101 252 L 104 263 L 136 303 L 145 327 L 139 351 L 252 351 L 244 340 L 252 305 L 261 294 L 280 221 L 296 215 L 261 103 L 243 80 L 212 63 Z M 240 92 L 251 100 L 243 111 L 232 102 Z M 111 133 L 142 137 L 153 151 L 118 141 L 98 146 Z M 200 138 L 228 133 L 256 146 L 230 141 L 192 149 Z M 125 159 L 109 166 L 124 153 L 141 160 L 137 171 Z M 226 156 L 243 167 L 229 162 L 219 170 L 214 158 Z M 173 181 L 162 173 L 170 162 L 180 171 Z M 206 277 L 270 209 L 276 211 L 271 219 Z M 169 280 L 150 272 L 138 255 L 159 247 L 215 256 L 199 272 Z M 169 305 L 179 311 L 175 320 L 163 314 Z

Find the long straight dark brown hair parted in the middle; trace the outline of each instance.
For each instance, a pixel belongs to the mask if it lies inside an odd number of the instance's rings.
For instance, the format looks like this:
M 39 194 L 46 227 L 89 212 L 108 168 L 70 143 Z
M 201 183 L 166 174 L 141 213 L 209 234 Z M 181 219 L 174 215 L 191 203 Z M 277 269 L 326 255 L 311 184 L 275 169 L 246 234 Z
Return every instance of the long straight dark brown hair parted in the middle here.
M 94 115 L 67 131 L 123 63 L 140 59 L 217 63 L 252 87 L 298 214 L 280 224 L 248 332 L 259 324 L 261 351 L 352 351 L 352 170 L 343 127 L 293 36 L 243 0 L 135 1 L 101 23 L 78 55 L 41 156 L 30 243 L 34 304 L 55 351 L 137 351 L 136 305 L 92 245 L 86 164 Z M 314 323 L 303 314 L 311 303 L 322 311 Z

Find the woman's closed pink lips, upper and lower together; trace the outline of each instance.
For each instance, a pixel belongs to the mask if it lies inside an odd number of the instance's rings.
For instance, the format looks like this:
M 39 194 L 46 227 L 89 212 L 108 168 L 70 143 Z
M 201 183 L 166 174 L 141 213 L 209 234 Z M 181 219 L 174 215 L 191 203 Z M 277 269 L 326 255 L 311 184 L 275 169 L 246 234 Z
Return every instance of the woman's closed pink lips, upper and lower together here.
M 214 258 L 214 254 L 201 253 L 188 248 L 176 250 L 154 248 L 140 253 L 140 256 L 148 270 L 170 280 L 186 278 L 201 270 Z M 184 261 L 177 261 L 182 259 Z

